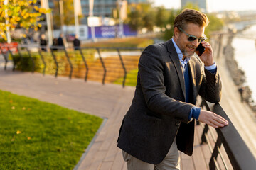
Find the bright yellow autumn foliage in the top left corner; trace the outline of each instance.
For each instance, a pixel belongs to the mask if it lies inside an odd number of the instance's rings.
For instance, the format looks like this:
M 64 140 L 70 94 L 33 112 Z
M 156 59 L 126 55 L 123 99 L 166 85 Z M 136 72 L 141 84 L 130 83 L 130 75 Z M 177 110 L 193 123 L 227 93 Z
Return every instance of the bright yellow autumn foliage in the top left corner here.
M 8 4 L 4 4 L 4 0 L 0 0 L 0 35 L 6 40 L 6 33 L 9 30 L 15 30 L 16 27 L 33 28 L 38 30 L 41 27 L 38 24 L 42 13 L 48 13 L 49 10 L 35 6 L 36 0 L 9 0 Z

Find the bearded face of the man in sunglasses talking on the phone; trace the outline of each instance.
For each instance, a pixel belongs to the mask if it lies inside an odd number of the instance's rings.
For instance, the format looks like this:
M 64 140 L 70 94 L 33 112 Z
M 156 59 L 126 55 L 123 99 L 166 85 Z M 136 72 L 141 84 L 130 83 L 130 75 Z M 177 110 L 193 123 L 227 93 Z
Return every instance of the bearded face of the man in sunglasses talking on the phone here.
M 194 23 L 188 23 L 186 30 L 184 30 L 189 35 L 194 35 L 198 38 L 203 37 L 204 27 L 199 27 Z M 184 57 L 191 57 L 196 51 L 196 47 L 199 45 L 198 39 L 190 42 L 188 41 L 188 35 L 183 33 L 178 28 L 174 28 L 174 41 L 178 45 Z

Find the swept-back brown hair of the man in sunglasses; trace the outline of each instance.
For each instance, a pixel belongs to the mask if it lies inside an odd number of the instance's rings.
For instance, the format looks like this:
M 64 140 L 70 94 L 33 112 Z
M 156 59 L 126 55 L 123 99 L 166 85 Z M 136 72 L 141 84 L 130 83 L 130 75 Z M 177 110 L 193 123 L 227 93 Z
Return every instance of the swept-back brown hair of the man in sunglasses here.
M 178 27 L 186 30 L 188 23 L 194 23 L 200 27 L 208 26 L 209 20 L 206 14 L 194 9 L 184 9 L 174 20 L 174 28 Z

